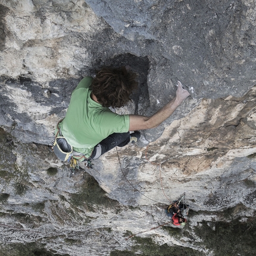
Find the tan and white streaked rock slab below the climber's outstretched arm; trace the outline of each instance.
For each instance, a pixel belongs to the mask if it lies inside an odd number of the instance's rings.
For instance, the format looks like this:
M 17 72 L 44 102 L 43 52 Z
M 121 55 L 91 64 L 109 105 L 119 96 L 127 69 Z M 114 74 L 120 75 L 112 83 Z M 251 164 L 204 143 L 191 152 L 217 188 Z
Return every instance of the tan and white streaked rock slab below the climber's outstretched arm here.
M 164 193 L 175 198 L 186 191 L 195 199 L 189 202 L 194 210 L 217 210 L 239 202 L 255 209 L 255 198 L 245 201 L 255 191 L 255 186 L 246 186 L 256 178 L 255 160 L 250 158 L 256 143 L 255 96 L 254 87 L 241 98 L 203 99 L 147 149 L 118 149 L 120 163 L 113 149 L 95 161 L 96 170 L 90 173 L 122 204 L 152 204 L 149 198 L 168 204 L 161 192 L 161 164 Z M 133 192 L 123 174 L 149 198 Z

